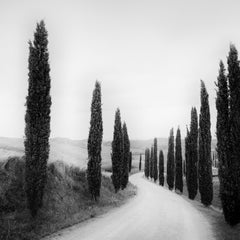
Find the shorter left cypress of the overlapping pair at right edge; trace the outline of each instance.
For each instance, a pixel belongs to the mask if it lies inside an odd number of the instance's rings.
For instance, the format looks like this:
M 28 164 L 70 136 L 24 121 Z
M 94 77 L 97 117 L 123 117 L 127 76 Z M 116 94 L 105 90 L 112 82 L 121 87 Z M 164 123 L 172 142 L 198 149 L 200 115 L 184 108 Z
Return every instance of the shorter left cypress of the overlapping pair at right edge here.
M 228 223 L 234 219 L 235 199 L 233 198 L 233 181 L 229 152 L 229 94 L 225 67 L 222 61 L 219 64 L 217 79 L 217 154 L 219 160 L 220 198 L 225 220 Z

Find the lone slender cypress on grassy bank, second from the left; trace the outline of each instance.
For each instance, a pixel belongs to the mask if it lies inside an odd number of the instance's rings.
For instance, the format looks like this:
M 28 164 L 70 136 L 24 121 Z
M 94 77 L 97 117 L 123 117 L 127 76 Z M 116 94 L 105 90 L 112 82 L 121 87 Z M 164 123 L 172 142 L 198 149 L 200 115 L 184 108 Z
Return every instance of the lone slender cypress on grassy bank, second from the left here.
M 87 180 L 88 189 L 93 199 L 100 197 L 101 188 L 101 150 L 102 150 L 102 103 L 101 85 L 95 83 L 91 105 L 90 130 L 88 135 L 88 168 Z

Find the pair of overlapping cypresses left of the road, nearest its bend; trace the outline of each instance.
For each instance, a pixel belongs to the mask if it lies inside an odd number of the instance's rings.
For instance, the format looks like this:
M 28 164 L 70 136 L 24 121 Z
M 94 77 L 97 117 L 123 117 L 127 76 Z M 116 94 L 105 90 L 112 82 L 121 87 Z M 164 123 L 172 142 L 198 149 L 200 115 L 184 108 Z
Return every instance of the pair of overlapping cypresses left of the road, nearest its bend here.
M 119 108 L 115 113 L 115 124 L 112 141 L 112 182 L 115 192 L 126 188 L 128 184 L 129 170 L 131 169 L 130 141 L 127 125 L 121 123 Z

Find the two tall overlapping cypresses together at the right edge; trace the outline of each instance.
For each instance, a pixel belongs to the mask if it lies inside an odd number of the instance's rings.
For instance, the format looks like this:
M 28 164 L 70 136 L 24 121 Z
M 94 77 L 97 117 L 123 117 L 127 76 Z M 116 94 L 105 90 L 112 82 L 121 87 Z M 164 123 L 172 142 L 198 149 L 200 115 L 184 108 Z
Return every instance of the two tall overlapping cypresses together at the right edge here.
M 240 222 L 240 67 L 234 45 L 227 63 L 228 77 L 220 62 L 217 82 L 217 151 L 223 213 L 235 225 Z

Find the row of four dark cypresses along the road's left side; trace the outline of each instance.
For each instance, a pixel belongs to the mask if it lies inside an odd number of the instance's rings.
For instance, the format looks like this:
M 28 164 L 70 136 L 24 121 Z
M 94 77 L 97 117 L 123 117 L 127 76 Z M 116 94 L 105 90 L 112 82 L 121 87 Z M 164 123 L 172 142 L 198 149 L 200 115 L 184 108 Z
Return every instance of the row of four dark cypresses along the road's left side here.
M 26 195 L 31 215 L 35 217 L 43 204 L 47 182 L 49 157 L 51 79 L 48 63 L 48 33 L 44 21 L 37 23 L 34 41 L 29 42 L 29 86 L 25 115 Z M 87 181 L 89 192 L 96 201 L 101 188 L 101 147 L 103 137 L 101 84 L 96 81 L 91 103 L 91 120 L 88 136 Z M 121 126 L 117 109 L 112 142 L 112 181 L 117 192 L 128 183 L 132 155 L 127 126 Z

